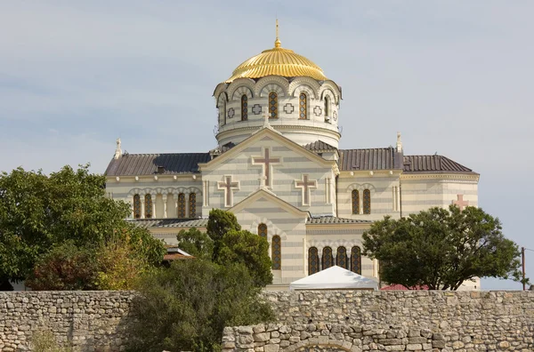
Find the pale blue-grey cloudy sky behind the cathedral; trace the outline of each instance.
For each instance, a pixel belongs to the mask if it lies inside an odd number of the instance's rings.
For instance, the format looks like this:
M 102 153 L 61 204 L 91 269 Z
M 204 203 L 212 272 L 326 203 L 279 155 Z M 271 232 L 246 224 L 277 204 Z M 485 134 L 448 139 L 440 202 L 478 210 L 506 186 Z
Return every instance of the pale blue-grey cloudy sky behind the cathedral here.
M 0 171 L 104 172 L 216 146 L 215 86 L 273 46 L 343 88 L 340 148 L 394 145 L 481 174 L 479 205 L 534 249 L 534 2 L 0 0 Z M 534 281 L 534 252 L 527 251 Z M 520 289 L 484 279 L 483 289 Z

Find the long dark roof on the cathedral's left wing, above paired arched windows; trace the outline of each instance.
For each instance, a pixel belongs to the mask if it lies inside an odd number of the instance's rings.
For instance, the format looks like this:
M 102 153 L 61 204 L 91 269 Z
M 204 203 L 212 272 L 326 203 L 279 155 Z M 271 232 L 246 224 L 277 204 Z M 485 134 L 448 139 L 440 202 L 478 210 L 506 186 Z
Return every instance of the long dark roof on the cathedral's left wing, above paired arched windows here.
M 124 154 L 111 159 L 107 176 L 141 176 L 162 173 L 164 175 L 198 172 L 199 163 L 211 160 L 209 153 L 176 154 Z M 158 172 L 158 166 L 163 170 Z

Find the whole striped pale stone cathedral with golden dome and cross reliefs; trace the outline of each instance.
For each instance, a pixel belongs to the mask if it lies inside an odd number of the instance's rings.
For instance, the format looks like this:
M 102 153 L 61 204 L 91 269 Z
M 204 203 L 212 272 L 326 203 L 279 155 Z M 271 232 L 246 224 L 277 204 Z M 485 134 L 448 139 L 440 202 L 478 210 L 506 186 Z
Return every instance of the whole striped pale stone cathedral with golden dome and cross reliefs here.
M 404 155 L 401 133 L 394 147 L 338 148 L 340 100 L 319 66 L 281 46 L 277 24 L 274 47 L 214 89 L 216 148 L 127 154 L 117 140 L 107 192 L 166 244 L 182 229 L 206 230 L 211 209 L 233 212 L 270 244 L 270 290 L 333 265 L 377 278 L 378 262 L 361 255 L 373 221 L 476 206 L 479 174 L 446 156 Z

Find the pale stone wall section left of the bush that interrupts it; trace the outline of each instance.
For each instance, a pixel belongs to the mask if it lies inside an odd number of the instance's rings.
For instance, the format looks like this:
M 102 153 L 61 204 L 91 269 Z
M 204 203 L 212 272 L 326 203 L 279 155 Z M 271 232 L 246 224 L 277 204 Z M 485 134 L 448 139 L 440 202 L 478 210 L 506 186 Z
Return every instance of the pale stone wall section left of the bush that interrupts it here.
M 118 351 L 134 292 L 0 292 L 0 351 L 25 351 L 32 334 L 52 331 L 80 351 Z

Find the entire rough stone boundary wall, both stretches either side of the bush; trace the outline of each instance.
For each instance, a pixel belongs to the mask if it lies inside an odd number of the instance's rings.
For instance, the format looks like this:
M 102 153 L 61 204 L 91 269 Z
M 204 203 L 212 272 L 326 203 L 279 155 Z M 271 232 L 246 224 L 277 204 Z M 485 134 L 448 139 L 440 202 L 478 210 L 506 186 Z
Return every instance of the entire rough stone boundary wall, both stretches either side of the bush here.
M 534 351 L 534 292 L 264 292 L 277 322 L 227 327 L 224 351 Z M 51 330 L 124 350 L 134 292 L 0 292 L 0 351 Z

